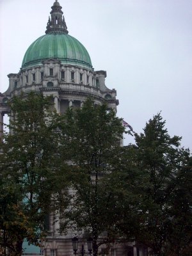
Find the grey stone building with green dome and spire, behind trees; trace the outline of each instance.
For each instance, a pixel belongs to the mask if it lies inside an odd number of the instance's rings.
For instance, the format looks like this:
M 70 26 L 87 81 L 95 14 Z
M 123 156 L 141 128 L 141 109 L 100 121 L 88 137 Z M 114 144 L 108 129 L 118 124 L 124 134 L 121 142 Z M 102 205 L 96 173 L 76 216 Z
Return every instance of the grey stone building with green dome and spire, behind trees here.
M 3 132 L 3 116 L 10 111 L 6 104 L 7 100 L 21 92 L 41 92 L 45 96 L 52 96 L 58 113 L 64 113 L 70 106 L 80 108 L 88 96 L 92 96 L 95 104 L 106 102 L 109 108 L 116 111 L 118 106 L 116 90 L 106 87 L 106 71 L 95 71 L 83 44 L 68 35 L 62 7 L 57 0 L 51 9 L 45 35 L 37 38 L 29 46 L 19 73 L 8 74 L 8 90 L 0 94 L 0 132 Z M 49 234 L 43 248 L 44 255 L 74 255 L 72 250 L 74 234 L 69 231 L 67 235 L 61 236 L 58 232 L 59 223 L 52 221 L 52 218 L 50 221 Z M 131 243 L 124 245 L 114 243 L 111 244 L 109 254 L 147 255 L 144 251 L 143 248 Z M 32 250 L 30 254 L 29 250 L 26 250 L 25 254 L 36 255 L 34 252 Z M 100 248 L 100 253 L 102 252 L 104 247 Z

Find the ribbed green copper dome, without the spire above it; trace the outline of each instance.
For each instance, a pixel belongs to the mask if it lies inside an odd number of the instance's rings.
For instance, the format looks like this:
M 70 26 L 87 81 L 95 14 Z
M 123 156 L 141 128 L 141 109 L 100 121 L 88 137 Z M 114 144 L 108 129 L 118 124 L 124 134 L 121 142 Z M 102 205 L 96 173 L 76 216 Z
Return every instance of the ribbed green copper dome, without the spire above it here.
M 22 69 L 56 58 L 62 64 L 92 68 L 92 61 L 83 44 L 66 33 L 47 33 L 36 39 L 24 55 Z

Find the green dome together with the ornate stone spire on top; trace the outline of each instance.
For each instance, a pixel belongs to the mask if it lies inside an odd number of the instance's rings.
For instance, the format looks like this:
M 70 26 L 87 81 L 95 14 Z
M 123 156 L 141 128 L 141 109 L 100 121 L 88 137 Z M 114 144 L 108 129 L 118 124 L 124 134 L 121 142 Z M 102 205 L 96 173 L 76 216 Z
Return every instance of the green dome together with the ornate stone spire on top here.
M 73 36 L 68 35 L 67 26 L 56 0 L 51 6 L 51 17 L 47 22 L 44 36 L 40 36 L 26 51 L 21 70 L 42 65 L 50 58 L 61 61 L 62 65 L 76 65 L 92 70 L 92 61 L 85 47 Z

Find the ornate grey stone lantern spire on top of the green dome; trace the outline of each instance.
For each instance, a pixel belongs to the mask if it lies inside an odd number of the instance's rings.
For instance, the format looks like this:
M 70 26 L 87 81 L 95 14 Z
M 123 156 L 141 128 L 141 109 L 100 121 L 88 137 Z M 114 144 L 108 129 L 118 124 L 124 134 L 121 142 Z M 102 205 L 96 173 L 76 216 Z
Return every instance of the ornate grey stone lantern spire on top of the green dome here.
M 68 34 L 67 31 L 67 25 L 65 23 L 65 18 L 63 16 L 63 12 L 61 11 L 62 7 L 60 6 L 60 3 L 58 0 L 55 0 L 53 3 L 53 6 L 51 6 L 52 11 L 51 13 L 51 19 L 49 17 L 49 20 L 47 22 L 47 30 L 45 31 L 46 34 Z

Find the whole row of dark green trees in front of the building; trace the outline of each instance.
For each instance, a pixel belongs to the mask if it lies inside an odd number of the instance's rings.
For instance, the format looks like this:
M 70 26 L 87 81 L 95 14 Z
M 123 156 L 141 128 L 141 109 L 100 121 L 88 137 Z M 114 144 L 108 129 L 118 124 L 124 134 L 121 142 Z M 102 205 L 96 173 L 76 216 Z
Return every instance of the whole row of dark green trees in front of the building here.
M 47 212 L 100 244 L 137 241 L 156 256 L 191 255 L 191 158 L 160 114 L 121 147 L 122 120 L 86 100 L 57 115 L 41 94 L 13 97 L 1 141 L 0 245 L 38 244 Z M 40 232 L 41 231 L 41 232 Z M 3 250 L 4 255 L 6 251 Z

